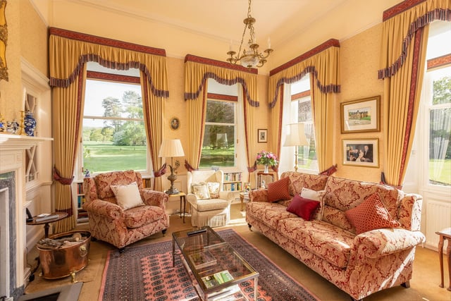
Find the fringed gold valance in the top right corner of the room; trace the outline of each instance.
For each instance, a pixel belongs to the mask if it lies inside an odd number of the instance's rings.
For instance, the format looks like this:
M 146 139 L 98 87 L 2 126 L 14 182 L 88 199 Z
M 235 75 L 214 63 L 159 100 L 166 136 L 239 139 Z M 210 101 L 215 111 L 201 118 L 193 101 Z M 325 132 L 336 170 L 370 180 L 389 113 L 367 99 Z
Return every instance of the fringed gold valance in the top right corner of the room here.
M 451 21 L 450 0 L 403 1 L 384 11 L 379 79 L 390 78 L 397 73 L 407 59 L 415 32 L 435 20 Z

